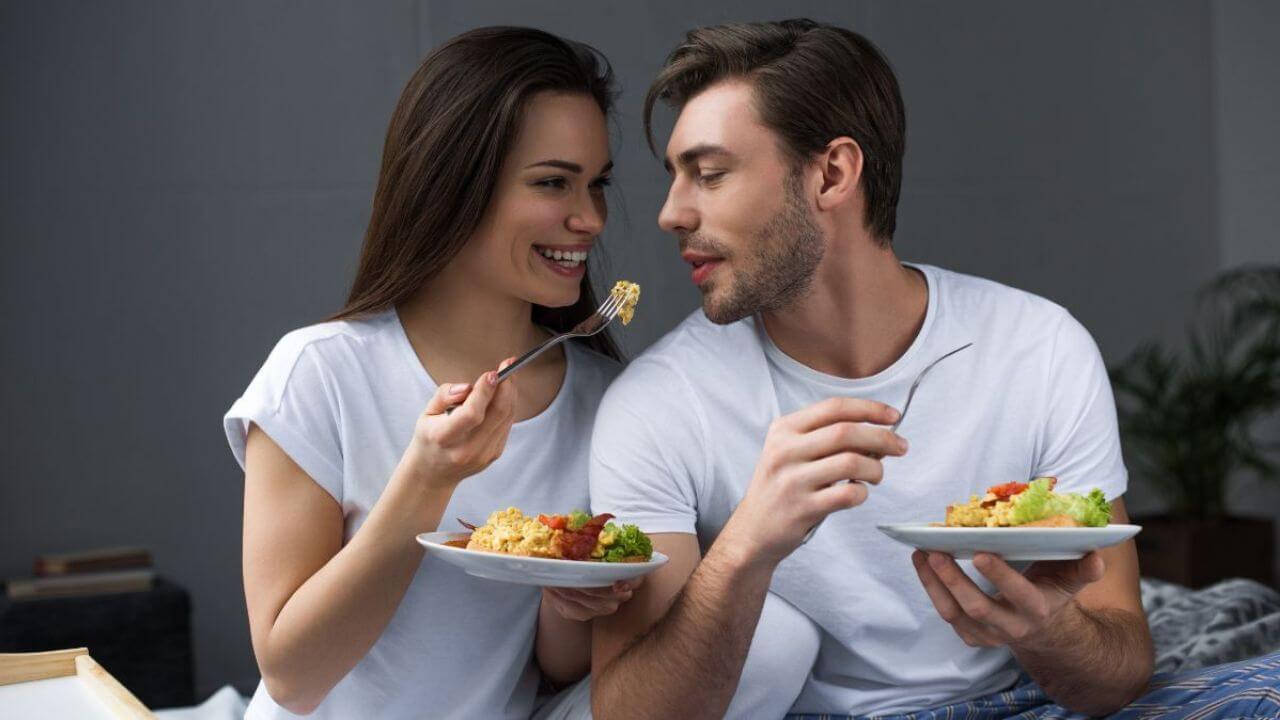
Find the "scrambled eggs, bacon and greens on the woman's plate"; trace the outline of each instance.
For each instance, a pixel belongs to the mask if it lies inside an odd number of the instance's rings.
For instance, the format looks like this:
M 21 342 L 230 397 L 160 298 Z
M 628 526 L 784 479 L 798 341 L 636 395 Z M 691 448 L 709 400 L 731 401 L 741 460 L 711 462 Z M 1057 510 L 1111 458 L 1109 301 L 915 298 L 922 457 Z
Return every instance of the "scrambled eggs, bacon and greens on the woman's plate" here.
M 467 550 L 599 562 L 648 562 L 653 542 L 635 525 L 611 523 L 608 512 L 590 516 L 525 515 L 518 507 L 498 510 L 471 533 Z

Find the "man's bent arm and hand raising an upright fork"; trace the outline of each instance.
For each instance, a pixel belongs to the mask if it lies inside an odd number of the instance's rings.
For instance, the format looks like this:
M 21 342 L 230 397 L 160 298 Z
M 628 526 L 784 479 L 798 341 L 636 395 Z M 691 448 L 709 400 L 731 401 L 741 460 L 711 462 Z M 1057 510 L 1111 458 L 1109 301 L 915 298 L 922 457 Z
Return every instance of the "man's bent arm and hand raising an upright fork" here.
M 742 502 L 699 561 L 692 534 L 655 534 L 671 561 L 594 625 L 591 712 L 719 717 L 737 689 L 773 570 L 815 523 L 867 500 L 877 457 L 904 455 L 897 411 L 837 398 L 780 418 Z M 833 484 L 840 479 L 852 480 Z

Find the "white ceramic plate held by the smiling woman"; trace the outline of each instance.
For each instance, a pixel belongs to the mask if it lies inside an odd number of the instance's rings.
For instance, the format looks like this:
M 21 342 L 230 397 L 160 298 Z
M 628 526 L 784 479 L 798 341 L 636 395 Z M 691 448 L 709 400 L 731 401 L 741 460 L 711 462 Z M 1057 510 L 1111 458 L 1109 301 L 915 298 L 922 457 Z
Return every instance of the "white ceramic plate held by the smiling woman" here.
M 520 585 L 603 588 L 617 580 L 648 575 L 667 562 L 667 556 L 657 551 L 649 562 L 586 562 L 521 557 L 444 544 L 448 541 L 466 539 L 468 533 L 422 533 L 417 536 L 417 542 L 440 560 L 462 568 L 468 575 Z

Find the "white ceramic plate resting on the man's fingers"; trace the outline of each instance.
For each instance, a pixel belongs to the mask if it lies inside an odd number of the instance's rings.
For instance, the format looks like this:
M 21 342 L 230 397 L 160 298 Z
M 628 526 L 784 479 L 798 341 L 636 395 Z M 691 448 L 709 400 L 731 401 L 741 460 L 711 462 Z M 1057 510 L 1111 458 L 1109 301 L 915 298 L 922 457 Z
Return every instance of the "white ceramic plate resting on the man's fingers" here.
M 1139 525 L 1105 528 L 938 528 L 928 523 L 877 525 L 886 536 L 919 550 L 968 560 L 991 552 L 1005 560 L 1078 560 L 1088 552 L 1124 542 Z

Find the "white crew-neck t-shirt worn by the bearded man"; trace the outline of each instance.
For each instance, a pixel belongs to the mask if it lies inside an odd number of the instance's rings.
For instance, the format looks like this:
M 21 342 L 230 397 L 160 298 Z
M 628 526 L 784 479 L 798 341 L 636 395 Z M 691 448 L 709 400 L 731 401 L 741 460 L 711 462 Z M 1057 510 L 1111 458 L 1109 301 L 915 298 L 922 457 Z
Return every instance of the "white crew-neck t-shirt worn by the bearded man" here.
M 974 343 L 931 370 L 899 430 L 910 451 L 884 461 L 867 502 L 828 516 L 774 573 L 771 592 L 820 634 L 796 712 L 904 712 L 1016 676 L 1006 648 L 970 648 L 938 618 L 911 550 L 877 524 L 940 521 L 950 502 L 1037 475 L 1108 498 L 1126 488 L 1115 402 L 1088 332 L 1030 293 L 913 266 L 928 281 L 924 324 L 873 377 L 823 375 L 778 351 L 758 319 L 714 325 L 699 311 L 628 365 L 596 416 L 593 506 L 648 532 L 696 533 L 705 552 L 742 498 L 773 419 L 832 396 L 901 407 L 925 365 Z

